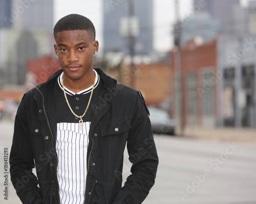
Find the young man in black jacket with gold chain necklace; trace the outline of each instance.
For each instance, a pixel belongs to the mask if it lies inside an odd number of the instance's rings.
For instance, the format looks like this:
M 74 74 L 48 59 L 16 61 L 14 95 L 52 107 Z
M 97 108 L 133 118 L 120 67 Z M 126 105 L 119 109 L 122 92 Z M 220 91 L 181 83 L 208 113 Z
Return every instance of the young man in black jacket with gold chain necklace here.
M 61 70 L 24 95 L 15 119 L 17 195 L 26 204 L 142 203 L 158 157 L 141 93 L 93 69 L 99 43 L 88 18 L 61 18 L 54 38 Z M 126 143 L 132 174 L 121 187 Z

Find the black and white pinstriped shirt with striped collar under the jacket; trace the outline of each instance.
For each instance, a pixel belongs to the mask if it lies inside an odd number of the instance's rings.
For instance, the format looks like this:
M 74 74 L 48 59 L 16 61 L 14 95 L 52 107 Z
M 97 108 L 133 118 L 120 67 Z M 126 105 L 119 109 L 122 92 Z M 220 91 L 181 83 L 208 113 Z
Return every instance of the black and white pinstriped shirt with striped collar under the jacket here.
M 63 73 L 62 73 L 63 74 Z M 90 118 L 87 113 L 83 118 L 82 130 L 79 130 L 78 118 L 71 113 L 63 98 L 63 90 L 61 86 L 62 74 L 58 77 L 58 86 L 60 89 L 60 96 L 62 99 L 57 99 L 57 106 L 61 106 L 62 112 L 59 111 L 61 118 L 57 123 L 57 140 L 56 152 L 58 155 L 57 177 L 59 183 L 59 195 L 61 204 L 81 204 L 84 201 L 84 192 L 86 188 L 86 175 L 87 175 L 87 149 L 88 138 L 90 130 Z M 96 72 L 95 88 L 99 84 L 99 76 Z M 65 87 L 69 103 L 73 111 L 77 115 L 82 115 L 85 107 L 87 106 L 88 99 L 81 101 L 84 97 L 89 98 L 92 87 L 86 90 L 74 93 Z M 95 93 L 93 93 L 95 94 Z M 94 95 L 93 95 L 94 96 Z M 78 98 L 78 100 L 77 100 Z M 80 98 L 80 99 L 79 99 Z M 65 100 L 65 101 L 63 101 Z M 76 110 L 76 106 L 81 105 Z M 64 107 L 64 108 L 63 108 Z M 89 111 L 88 111 L 89 112 Z M 63 118 L 64 117 L 64 118 Z M 73 122 L 72 122 L 73 121 Z

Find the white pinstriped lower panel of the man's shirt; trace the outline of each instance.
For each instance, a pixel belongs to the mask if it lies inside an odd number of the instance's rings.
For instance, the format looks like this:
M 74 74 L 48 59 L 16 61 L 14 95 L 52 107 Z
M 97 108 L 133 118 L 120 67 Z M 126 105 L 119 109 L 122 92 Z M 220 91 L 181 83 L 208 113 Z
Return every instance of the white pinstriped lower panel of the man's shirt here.
M 58 182 L 62 203 L 83 203 L 86 188 L 86 157 L 90 122 L 82 130 L 77 123 L 57 124 Z

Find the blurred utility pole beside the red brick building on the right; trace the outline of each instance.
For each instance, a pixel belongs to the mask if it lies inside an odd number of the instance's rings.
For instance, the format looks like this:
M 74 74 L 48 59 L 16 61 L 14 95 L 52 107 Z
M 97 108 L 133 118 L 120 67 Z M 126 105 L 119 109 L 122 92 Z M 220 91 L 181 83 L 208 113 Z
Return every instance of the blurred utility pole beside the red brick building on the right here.
M 182 38 L 182 24 L 180 19 L 180 1 L 175 0 L 175 16 L 176 16 L 176 26 L 175 26 L 175 45 L 177 48 L 176 52 L 176 65 L 178 68 L 179 73 L 179 90 L 180 90 L 180 131 L 181 136 L 184 135 L 184 128 L 185 128 L 185 120 L 184 120 L 184 76 L 183 76 L 183 69 L 182 69 L 182 50 L 181 50 L 181 38 Z

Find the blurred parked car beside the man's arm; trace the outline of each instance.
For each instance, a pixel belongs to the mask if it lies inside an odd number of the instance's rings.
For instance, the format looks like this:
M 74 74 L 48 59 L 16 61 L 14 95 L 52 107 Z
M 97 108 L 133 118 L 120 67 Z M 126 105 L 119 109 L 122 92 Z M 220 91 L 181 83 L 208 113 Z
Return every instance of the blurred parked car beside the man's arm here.
M 175 135 L 174 120 L 169 114 L 156 107 L 148 107 L 153 133 Z

